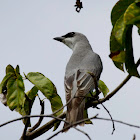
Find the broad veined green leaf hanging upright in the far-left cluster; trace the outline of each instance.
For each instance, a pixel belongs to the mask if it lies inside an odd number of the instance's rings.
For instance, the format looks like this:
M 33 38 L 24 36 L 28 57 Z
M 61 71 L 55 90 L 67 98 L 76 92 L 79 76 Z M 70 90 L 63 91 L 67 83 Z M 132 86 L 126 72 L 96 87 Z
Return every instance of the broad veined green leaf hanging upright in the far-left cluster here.
M 11 110 L 20 109 L 24 102 L 24 83 L 21 75 L 11 77 L 7 82 L 7 105 Z

